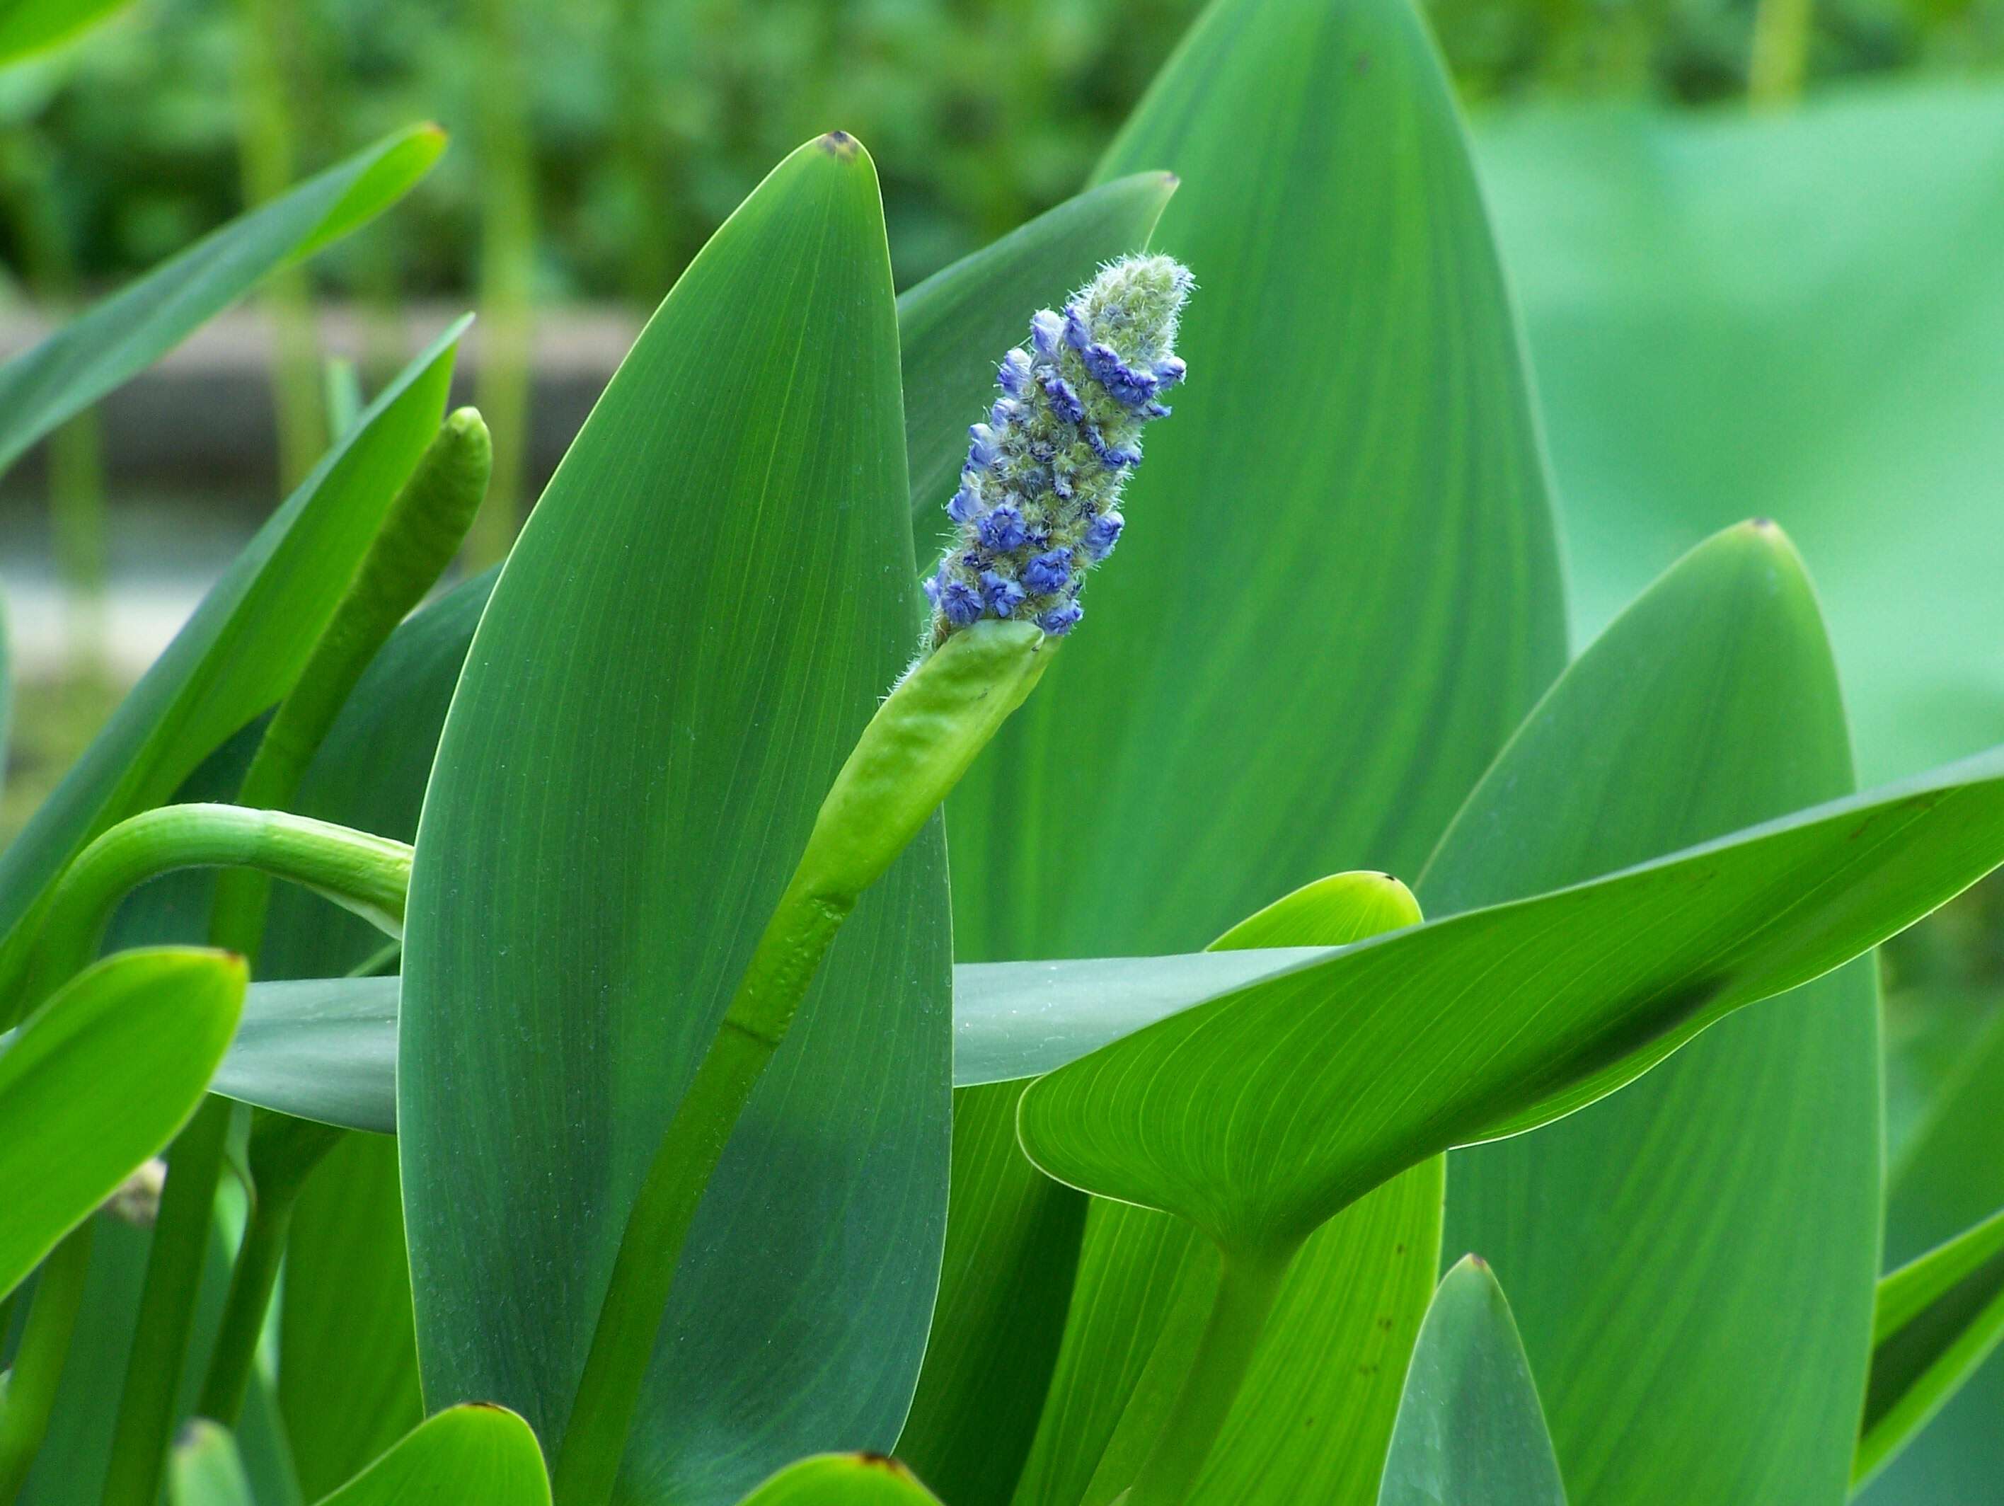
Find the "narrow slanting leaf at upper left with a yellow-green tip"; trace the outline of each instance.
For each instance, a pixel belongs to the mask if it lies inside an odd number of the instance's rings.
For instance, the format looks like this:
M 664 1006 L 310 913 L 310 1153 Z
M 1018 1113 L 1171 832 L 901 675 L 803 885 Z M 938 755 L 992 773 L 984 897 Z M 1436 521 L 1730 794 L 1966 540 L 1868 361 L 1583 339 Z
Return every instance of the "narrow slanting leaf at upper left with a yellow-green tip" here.
M 445 132 L 437 126 L 387 136 L 230 221 L 0 365 L 0 471 L 58 423 L 150 367 L 273 267 L 311 255 L 385 211 L 431 170 L 441 150 Z

